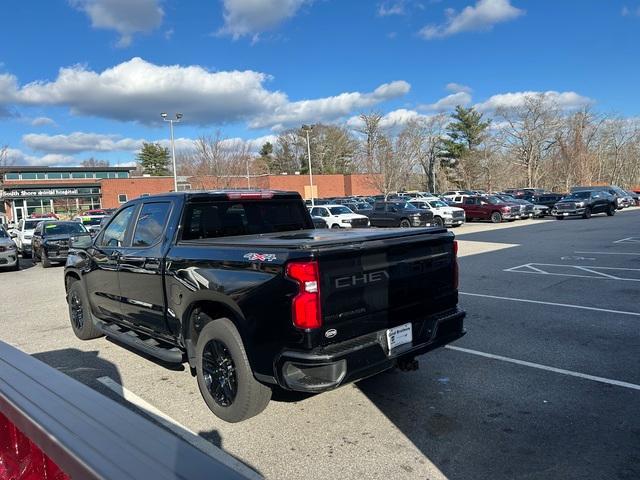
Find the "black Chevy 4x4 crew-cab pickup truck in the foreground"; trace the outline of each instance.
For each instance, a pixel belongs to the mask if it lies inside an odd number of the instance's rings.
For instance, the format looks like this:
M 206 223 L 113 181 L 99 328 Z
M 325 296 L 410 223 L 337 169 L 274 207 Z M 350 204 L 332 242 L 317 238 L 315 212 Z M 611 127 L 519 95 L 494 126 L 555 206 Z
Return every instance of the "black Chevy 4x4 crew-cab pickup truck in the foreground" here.
M 464 335 L 444 228 L 314 230 L 297 193 L 179 192 L 124 204 L 65 268 L 71 326 L 188 362 L 238 422 L 275 387 L 336 388 Z

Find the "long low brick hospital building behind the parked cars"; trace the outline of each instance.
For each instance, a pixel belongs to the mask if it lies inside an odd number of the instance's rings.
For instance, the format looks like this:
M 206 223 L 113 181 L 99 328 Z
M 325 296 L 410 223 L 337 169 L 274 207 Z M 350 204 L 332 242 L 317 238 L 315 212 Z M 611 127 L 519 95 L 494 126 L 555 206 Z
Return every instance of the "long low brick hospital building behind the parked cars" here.
M 134 177 L 131 167 L 0 168 L 0 216 L 9 221 L 39 213 L 72 216 L 94 208 L 117 208 L 142 195 L 173 190 L 173 177 Z M 247 178 L 180 177 L 178 189 L 260 188 L 287 190 L 311 198 L 307 175 Z M 375 195 L 370 175 L 316 175 L 313 196 Z

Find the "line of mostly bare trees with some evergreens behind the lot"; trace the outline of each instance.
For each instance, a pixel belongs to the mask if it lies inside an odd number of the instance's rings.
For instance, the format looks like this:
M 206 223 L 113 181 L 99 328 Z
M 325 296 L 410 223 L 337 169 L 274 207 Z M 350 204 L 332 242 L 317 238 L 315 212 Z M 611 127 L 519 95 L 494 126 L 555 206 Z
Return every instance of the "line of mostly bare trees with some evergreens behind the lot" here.
M 306 174 L 307 133 L 314 174 L 373 173 L 373 186 L 382 193 L 508 187 L 564 192 L 573 185 L 640 184 L 640 120 L 589 107 L 567 111 L 545 94 L 491 116 L 458 106 L 451 114 L 418 116 L 402 126 L 388 126 L 378 112 L 362 113 L 349 126 L 280 132 L 257 153 L 220 133 L 203 136 L 193 149 L 179 152 L 178 173 Z M 145 144 L 138 160 L 145 173 L 169 172 L 169 152 L 158 144 Z

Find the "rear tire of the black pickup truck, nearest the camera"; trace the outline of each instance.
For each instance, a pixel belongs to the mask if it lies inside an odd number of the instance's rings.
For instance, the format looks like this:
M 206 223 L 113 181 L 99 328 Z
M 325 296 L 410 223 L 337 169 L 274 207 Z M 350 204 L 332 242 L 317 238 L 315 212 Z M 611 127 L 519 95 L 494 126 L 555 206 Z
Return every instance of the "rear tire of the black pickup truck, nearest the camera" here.
M 226 370 L 220 372 L 224 367 Z M 220 380 L 214 377 L 216 372 L 222 376 Z M 210 321 L 200 332 L 196 378 L 205 403 L 225 422 L 247 420 L 262 412 L 271 400 L 271 388 L 254 378 L 240 333 L 228 318 Z M 214 389 L 217 384 L 219 388 Z

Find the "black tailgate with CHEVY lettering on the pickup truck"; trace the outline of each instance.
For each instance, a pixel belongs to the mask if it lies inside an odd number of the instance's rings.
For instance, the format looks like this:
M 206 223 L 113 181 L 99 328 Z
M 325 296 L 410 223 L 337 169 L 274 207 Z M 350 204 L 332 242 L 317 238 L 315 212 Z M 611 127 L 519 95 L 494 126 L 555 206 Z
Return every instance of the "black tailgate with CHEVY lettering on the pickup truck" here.
M 425 232 L 317 251 L 321 344 L 418 322 L 456 308 L 453 234 Z

